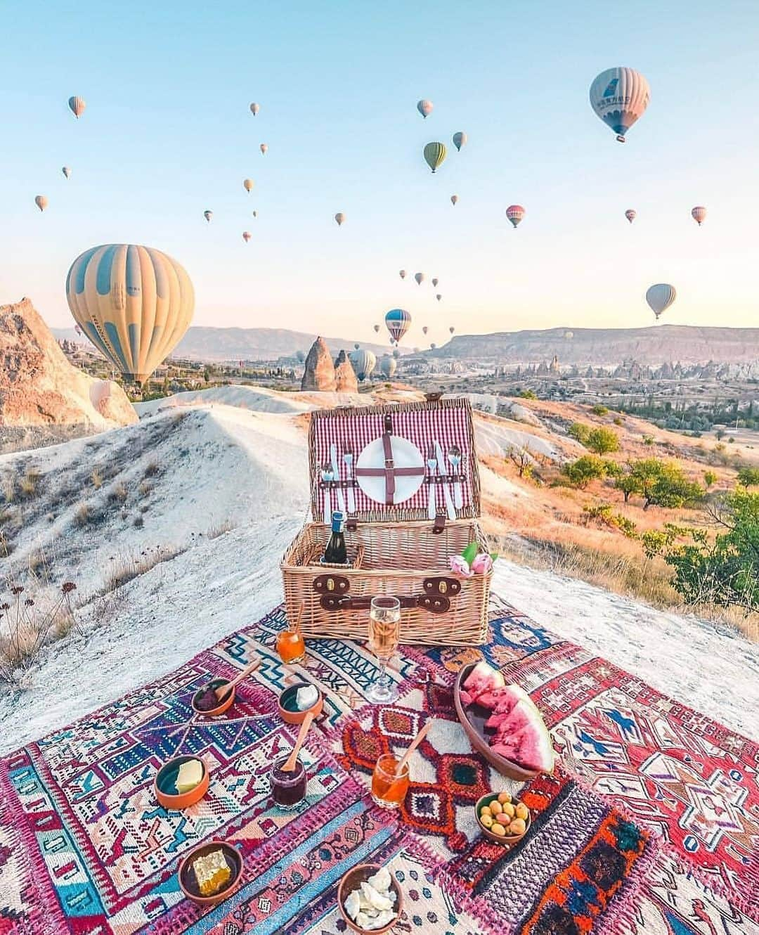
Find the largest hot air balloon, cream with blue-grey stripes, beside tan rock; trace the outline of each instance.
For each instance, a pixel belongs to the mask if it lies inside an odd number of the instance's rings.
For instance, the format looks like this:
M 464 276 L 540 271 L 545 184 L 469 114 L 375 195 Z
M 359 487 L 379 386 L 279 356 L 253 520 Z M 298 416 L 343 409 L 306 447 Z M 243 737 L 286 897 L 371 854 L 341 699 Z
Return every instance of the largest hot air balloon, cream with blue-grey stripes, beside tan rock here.
M 111 243 L 81 253 L 66 279 L 74 320 L 127 380 L 144 383 L 193 317 L 193 283 L 152 247 Z

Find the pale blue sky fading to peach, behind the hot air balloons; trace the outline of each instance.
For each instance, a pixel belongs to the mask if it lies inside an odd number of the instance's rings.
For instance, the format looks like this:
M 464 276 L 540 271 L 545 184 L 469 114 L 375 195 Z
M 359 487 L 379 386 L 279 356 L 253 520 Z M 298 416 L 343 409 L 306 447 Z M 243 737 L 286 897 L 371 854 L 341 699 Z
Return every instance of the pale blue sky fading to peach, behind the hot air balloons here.
M 195 287 L 193 324 L 368 340 L 401 307 L 418 344 L 422 324 L 438 343 L 451 324 L 643 326 L 660 281 L 678 292 L 663 321 L 758 324 L 755 3 L 0 10 L 0 303 L 29 295 L 51 325 L 73 324 L 68 267 L 111 242 L 176 258 Z M 652 89 L 624 145 L 588 101 L 614 65 Z M 79 121 L 72 94 L 87 102 Z M 422 97 L 435 105 L 427 120 Z M 422 159 L 431 140 L 449 150 L 435 175 Z M 44 213 L 36 194 L 50 199 Z M 526 209 L 517 230 L 512 203 Z M 701 228 L 695 205 L 709 209 Z

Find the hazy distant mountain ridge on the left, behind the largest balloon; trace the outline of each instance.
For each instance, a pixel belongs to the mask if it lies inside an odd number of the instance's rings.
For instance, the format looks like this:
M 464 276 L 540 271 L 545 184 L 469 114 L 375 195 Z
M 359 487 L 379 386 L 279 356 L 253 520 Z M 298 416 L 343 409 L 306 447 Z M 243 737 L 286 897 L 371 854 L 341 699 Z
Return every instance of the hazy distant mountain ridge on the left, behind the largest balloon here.
M 52 333 L 60 340 L 82 341 L 74 328 L 53 328 Z M 289 331 L 287 328 L 211 328 L 194 325 L 179 341 L 171 356 L 218 361 L 276 360 L 278 357 L 293 356 L 298 351 L 307 354 L 317 337 L 316 334 Z M 389 343 L 374 344 L 348 338 L 324 338 L 324 341 L 334 355 L 343 349 L 352 351 L 354 344 L 360 344 L 378 356 L 390 351 Z

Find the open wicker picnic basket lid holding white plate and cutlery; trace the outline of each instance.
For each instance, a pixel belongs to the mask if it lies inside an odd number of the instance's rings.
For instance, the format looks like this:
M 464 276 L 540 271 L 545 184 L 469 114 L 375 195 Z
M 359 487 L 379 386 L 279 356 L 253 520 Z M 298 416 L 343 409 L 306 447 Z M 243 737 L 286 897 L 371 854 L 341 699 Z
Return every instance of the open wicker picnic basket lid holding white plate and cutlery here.
M 387 437 L 387 438 L 385 438 Z M 351 478 L 355 511 L 350 516 L 360 522 L 408 522 L 426 520 L 431 473 L 427 467 L 430 446 L 439 443 L 444 464 L 436 474 L 454 471 L 451 447 L 461 450 L 462 506 L 454 507 L 457 519 L 480 515 L 480 470 L 475 452 L 472 409 L 461 396 L 426 402 L 387 403 L 381 406 L 339 407 L 314 410 L 308 433 L 308 468 L 311 482 L 311 513 L 320 520 L 324 511 L 325 485 L 322 468 L 332 465 L 331 446 L 335 444 L 340 481 L 348 482 L 346 452 L 352 453 Z M 362 453 L 364 456 L 362 457 Z M 391 463 L 385 463 L 390 454 Z M 393 480 L 388 482 L 390 468 Z M 358 473 L 357 473 L 358 472 Z M 358 484 L 361 484 L 359 486 Z M 389 493 L 389 486 L 393 492 Z M 454 499 L 453 482 L 436 483 L 437 511 L 446 512 L 443 487 Z M 368 496 L 371 494 L 372 496 Z M 409 496 L 410 495 L 410 496 Z M 330 505 L 337 510 L 337 489 L 330 490 Z M 342 488 L 346 503 L 347 487 Z

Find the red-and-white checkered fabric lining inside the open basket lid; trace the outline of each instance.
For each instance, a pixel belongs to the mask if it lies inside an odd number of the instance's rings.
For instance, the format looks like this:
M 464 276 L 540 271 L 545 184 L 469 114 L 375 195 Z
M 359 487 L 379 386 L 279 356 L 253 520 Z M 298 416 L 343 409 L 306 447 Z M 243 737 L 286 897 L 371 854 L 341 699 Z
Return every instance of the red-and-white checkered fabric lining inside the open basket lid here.
M 343 454 L 346 445 L 349 445 L 353 452 L 353 470 L 355 470 L 358 456 L 369 442 L 379 439 L 384 432 L 385 415 L 380 410 L 356 415 L 340 414 L 335 418 L 330 418 L 329 414 L 316 420 L 314 444 L 317 463 L 317 487 L 315 492 L 317 510 L 314 518 L 318 521 L 322 518 L 324 511 L 324 490 L 321 486 L 322 474 L 321 466 L 330 463 L 329 449 L 334 441 L 337 445 L 337 467 L 340 471 L 340 480 L 345 481 L 348 477 L 346 465 L 343 461 Z M 438 473 L 451 473 L 453 468 L 448 460 L 448 450 L 455 444 L 461 449 L 461 465 L 459 470 L 464 474 L 465 479 L 462 482 L 462 495 L 464 496 L 464 507 L 458 510 L 460 516 L 472 515 L 472 484 L 470 478 L 470 465 L 472 453 L 469 450 L 469 427 L 470 414 L 464 406 L 445 409 L 428 410 L 404 410 L 399 408 L 391 413 L 393 425 L 392 435 L 399 435 L 412 442 L 422 453 L 424 460 L 425 475 L 427 474 L 426 461 L 429 453 L 430 443 L 438 441 L 443 451 L 445 464 L 442 471 Z M 312 479 L 313 482 L 313 479 Z M 449 485 L 451 498 L 453 496 L 453 484 Z M 420 489 L 405 500 L 403 503 L 394 506 L 385 506 L 370 500 L 365 496 L 360 487 L 354 488 L 356 501 L 356 512 L 360 515 L 362 512 L 386 511 L 388 518 L 392 518 L 394 511 L 418 511 L 420 519 L 427 517 L 427 491 L 428 485 L 422 483 Z M 335 492 L 331 494 L 333 506 L 336 502 Z M 443 511 L 443 494 L 437 491 L 437 510 Z

